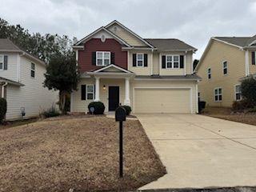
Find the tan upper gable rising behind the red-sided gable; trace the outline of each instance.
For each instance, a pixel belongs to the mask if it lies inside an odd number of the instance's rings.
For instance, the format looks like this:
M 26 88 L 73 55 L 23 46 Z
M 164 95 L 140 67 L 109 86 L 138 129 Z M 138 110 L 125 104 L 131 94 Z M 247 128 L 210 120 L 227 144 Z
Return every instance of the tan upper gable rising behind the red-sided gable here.
M 128 29 L 126 26 L 123 26 L 120 22 L 114 20 L 110 24 L 105 26 L 106 29 L 110 30 L 112 33 L 117 34 L 118 37 L 124 39 L 131 46 L 145 46 L 154 48 L 150 42 L 147 42 L 145 39 L 135 34 L 132 30 Z

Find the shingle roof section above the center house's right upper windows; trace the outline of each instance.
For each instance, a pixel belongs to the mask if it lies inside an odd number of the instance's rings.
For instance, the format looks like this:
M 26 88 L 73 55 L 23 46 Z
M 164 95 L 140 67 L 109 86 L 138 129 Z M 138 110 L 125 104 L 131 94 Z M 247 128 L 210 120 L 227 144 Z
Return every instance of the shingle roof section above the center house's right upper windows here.
M 147 42 L 150 42 L 154 47 L 160 51 L 167 50 L 197 50 L 193 46 L 182 42 L 177 38 L 145 38 Z

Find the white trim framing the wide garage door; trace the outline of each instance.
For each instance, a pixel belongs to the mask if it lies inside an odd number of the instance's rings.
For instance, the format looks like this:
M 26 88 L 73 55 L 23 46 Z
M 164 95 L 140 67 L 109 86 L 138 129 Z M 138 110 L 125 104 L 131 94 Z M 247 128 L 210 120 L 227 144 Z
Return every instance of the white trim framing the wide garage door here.
M 133 109 L 134 109 L 134 113 L 136 113 L 135 110 L 135 89 L 149 89 L 149 90 L 190 90 L 190 114 L 193 114 L 193 95 L 192 95 L 192 86 L 150 86 L 150 87 L 146 87 L 146 86 L 135 86 L 133 89 Z

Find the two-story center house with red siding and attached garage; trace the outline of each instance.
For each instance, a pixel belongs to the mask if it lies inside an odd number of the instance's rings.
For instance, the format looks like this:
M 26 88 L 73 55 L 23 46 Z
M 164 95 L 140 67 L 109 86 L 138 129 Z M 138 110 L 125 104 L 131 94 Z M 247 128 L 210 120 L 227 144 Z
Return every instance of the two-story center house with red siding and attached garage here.
M 198 111 L 198 76 L 193 74 L 196 49 L 174 38 L 141 38 L 114 21 L 74 46 L 82 71 L 71 94 L 71 111 L 86 112 L 101 101 L 106 112 L 119 105 L 134 113 Z

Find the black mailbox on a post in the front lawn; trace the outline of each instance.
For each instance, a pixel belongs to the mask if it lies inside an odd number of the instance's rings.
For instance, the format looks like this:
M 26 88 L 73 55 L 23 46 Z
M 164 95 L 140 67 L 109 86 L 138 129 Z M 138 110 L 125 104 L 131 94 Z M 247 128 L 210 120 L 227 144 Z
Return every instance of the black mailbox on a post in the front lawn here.
M 123 177 L 123 162 L 122 162 L 122 122 L 126 121 L 126 110 L 119 106 L 115 110 L 115 121 L 119 122 L 119 177 Z

